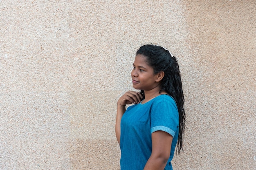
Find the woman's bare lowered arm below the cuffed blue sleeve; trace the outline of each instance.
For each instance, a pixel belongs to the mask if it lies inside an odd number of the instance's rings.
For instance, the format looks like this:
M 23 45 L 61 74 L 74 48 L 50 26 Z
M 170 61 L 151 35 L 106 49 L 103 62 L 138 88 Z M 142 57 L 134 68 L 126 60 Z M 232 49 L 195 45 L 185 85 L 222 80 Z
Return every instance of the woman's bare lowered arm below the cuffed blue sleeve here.
M 160 130 L 153 132 L 151 137 L 152 153 L 144 170 L 164 170 L 170 157 L 173 137 L 167 132 Z

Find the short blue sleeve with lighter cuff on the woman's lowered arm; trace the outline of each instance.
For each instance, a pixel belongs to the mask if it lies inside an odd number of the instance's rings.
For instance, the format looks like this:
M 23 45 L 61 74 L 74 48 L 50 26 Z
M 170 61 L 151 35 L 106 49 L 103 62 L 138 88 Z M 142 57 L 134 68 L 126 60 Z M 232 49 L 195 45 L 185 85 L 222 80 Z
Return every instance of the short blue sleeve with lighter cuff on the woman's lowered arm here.
M 150 110 L 151 133 L 161 130 L 173 137 L 179 127 L 179 113 L 174 99 L 166 96 L 156 100 Z

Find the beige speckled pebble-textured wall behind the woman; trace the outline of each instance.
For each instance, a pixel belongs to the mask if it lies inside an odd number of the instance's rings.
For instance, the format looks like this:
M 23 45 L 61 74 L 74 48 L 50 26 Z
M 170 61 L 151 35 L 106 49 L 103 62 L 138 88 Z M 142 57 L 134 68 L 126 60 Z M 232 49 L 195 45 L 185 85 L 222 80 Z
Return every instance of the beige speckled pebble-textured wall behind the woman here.
M 256 170 L 255 0 L 0 0 L 0 169 L 119 170 L 136 50 L 177 56 L 175 170 Z

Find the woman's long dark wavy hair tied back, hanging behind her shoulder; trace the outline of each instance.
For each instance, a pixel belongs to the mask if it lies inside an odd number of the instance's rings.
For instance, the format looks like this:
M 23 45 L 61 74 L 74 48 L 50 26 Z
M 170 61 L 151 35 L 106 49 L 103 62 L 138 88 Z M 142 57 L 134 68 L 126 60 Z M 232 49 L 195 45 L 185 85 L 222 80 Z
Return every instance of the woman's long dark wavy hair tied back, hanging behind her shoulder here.
M 182 135 L 185 128 L 185 110 L 184 110 L 184 95 L 182 90 L 182 82 L 180 68 L 177 59 L 166 49 L 156 45 L 144 45 L 139 48 L 136 55 L 141 54 L 146 57 L 146 62 L 152 66 L 155 74 L 159 71 L 164 72 L 164 77 L 160 82 L 160 91 L 171 95 L 177 104 L 179 111 L 179 136 L 178 136 L 178 152 L 182 148 Z M 144 91 L 141 90 L 143 99 L 145 98 Z

